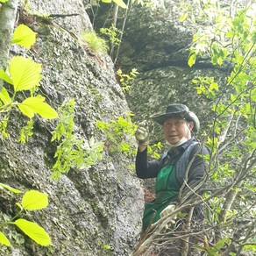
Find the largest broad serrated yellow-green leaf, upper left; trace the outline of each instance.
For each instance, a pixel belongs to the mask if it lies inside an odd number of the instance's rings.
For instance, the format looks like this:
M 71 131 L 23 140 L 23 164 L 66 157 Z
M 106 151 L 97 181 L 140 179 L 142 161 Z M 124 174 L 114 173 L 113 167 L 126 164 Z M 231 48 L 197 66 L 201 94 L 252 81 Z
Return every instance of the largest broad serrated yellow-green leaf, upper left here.
M 39 86 L 39 81 L 42 78 L 41 66 L 41 64 L 22 56 L 13 57 L 10 63 L 10 74 L 14 91 L 34 89 Z

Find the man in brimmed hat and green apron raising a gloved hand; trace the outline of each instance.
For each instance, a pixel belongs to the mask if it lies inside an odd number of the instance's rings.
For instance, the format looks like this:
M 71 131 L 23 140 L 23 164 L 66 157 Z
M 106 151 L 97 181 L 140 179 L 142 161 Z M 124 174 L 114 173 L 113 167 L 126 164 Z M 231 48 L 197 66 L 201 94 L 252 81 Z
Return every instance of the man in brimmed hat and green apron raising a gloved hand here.
M 196 195 L 192 190 L 203 179 L 206 171 L 203 155 L 208 154 L 207 149 L 193 136 L 198 132 L 200 124 L 196 114 L 188 110 L 186 105 L 171 104 L 165 113 L 152 118 L 162 125 L 169 150 L 161 155 L 160 160 L 148 161 L 149 132 L 144 122 L 138 125 L 135 133 L 139 142 L 136 173 L 141 179 L 156 178 L 155 199 L 145 204 L 143 232 L 150 224 L 175 209 L 181 188 L 183 196 L 188 193 Z M 199 215 L 200 210 L 201 207 L 196 206 L 195 214 Z

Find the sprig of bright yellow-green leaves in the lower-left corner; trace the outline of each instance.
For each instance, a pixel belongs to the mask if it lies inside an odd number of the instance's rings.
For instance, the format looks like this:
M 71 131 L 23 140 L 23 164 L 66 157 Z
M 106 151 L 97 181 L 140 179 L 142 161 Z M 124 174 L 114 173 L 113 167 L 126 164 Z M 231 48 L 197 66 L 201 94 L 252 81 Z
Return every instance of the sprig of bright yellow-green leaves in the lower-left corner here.
M 21 190 L 11 188 L 3 183 L 0 183 L 0 189 L 4 189 L 4 191 L 9 191 L 13 194 L 23 193 Z M 16 205 L 19 211 L 14 217 L 2 213 L 0 220 L 1 229 L 4 231 L 7 225 L 13 224 L 37 244 L 42 246 L 52 245 L 51 238 L 42 227 L 22 217 L 27 210 L 42 210 L 46 208 L 48 205 L 48 196 L 37 190 L 28 190 L 22 196 L 20 203 L 16 203 Z M 0 243 L 2 245 L 11 246 L 10 239 L 7 238 L 2 231 L 0 231 Z

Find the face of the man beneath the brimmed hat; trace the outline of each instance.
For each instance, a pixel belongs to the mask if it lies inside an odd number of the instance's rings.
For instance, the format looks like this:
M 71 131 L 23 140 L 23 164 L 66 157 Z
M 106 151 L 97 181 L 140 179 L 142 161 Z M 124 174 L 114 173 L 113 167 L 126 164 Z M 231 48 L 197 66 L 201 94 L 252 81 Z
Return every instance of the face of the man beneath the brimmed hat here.
M 186 120 L 179 117 L 170 117 L 165 121 L 163 131 L 167 141 L 174 145 L 183 137 L 191 139 L 191 131 L 193 127 L 193 122 L 186 122 Z

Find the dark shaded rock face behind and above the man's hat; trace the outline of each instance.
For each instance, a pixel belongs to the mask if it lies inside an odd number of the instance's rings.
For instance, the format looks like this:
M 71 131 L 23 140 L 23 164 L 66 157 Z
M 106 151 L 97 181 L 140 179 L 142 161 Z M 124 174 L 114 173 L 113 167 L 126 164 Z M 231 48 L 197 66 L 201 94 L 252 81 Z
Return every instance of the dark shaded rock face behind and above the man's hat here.
M 185 103 L 196 112 L 202 123 L 202 130 L 207 130 L 210 122 L 209 99 L 198 95 L 196 85 L 192 82 L 198 76 L 208 75 L 220 82 L 227 69 L 210 64 L 207 56 L 198 57 L 193 68 L 188 67 L 189 46 L 194 33 L 205 26 L 193 24 L 192 17 L 181 21 L 181 16 L 198 15 L 198 6 L 193 1 L 186 4 L 181 1 L 158 1 L 155 9 L 133 4 L 125 22 L 123 41 L 117 58 L 117 67 L 124 73 L 137 68 L 139 75 L 126 94 L 130 109 L 134 112 L 133 120 L 149 121 L 154 131 L 153 141 L 162 139 L 160 127 L 149 118 L 153 113 L 163 112 L 170 103 Z M 189 12 L 189 10 L 193 10 Z M 108 26 L 109 7 L 103 5 L 98 11 L 96 29 Z M 92 14 L 90 14 L 92 15 Z M 124 22 L 124 11 L 119 11 L 117 28 Z

